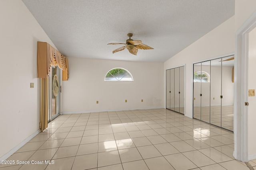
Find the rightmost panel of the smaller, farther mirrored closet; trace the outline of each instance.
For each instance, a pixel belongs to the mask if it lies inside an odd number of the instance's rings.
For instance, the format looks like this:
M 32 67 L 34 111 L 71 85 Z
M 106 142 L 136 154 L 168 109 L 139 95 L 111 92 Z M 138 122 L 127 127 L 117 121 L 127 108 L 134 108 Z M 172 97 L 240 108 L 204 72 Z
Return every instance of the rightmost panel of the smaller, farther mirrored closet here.
M 185 66 L 180 67 L 180 113 L 184 114 L 185 105 Z

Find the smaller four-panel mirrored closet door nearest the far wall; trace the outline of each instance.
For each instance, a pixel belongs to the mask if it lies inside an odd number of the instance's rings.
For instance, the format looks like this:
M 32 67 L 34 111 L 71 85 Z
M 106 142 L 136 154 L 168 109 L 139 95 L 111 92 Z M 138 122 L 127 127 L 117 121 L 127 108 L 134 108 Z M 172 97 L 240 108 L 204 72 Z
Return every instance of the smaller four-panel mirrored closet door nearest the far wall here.
M 166 109 L 185 113 L 185 66 L 166 70 Z

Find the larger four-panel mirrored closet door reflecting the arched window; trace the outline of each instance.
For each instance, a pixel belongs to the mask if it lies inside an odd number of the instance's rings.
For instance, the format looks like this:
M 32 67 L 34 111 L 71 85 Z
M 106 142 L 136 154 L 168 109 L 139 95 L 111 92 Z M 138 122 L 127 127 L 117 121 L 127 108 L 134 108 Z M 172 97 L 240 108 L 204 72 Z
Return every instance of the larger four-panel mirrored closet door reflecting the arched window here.
M 234 131 L 234 56 L 194 64 L 193 117 Z

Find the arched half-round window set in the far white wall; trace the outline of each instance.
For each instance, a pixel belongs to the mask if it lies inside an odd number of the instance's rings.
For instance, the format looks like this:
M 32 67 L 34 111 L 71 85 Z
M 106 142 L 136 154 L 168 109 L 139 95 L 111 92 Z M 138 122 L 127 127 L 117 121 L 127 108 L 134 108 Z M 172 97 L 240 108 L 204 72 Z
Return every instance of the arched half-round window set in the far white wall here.
M 132 74 L 124 68 L 113 68 L 108 71 L 104 81 L 133 81 Z

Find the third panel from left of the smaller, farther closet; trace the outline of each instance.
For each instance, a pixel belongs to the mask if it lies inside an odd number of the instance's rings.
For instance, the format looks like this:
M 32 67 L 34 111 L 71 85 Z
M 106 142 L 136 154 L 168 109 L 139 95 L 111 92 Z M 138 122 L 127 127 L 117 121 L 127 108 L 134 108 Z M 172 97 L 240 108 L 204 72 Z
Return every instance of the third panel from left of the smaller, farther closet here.
M 174 111 L 180 112 L 180 68 L 174 68 Z

